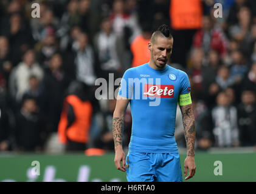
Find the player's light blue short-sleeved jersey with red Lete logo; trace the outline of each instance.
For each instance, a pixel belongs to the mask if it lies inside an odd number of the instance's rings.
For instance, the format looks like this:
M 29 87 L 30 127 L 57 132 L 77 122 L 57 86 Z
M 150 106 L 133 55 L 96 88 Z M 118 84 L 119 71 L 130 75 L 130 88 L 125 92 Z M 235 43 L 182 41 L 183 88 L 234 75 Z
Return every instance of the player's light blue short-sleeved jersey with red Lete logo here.
M 190 93 L 185 72 L 143 64 L 126 70 L 119 95 L 130 99 L 133 119 L 130 152 L 178 153 L 175 119 L 179 95 Z

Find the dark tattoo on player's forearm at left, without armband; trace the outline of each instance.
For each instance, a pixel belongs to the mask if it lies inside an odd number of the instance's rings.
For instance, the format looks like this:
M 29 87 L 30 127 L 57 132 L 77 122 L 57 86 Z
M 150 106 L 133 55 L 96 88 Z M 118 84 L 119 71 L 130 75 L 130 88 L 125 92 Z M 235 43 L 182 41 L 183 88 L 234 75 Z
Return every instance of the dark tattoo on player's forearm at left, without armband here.
M 123 116 L 121 118 L 115 117 L 112 121 L 112 134 L 114 144 L 116 146 L 122 146 L 122 131 L 123 131 Z

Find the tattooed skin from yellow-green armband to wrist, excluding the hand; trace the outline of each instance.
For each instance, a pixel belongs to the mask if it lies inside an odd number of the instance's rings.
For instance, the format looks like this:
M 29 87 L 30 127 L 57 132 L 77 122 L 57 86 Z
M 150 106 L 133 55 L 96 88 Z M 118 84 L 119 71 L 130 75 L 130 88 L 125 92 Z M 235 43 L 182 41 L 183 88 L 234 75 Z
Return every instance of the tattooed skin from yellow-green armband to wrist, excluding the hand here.
M 192 104 L 181 106 L 184 136 L 187 144 L 187 156 L 195 156 L 196 125 Z

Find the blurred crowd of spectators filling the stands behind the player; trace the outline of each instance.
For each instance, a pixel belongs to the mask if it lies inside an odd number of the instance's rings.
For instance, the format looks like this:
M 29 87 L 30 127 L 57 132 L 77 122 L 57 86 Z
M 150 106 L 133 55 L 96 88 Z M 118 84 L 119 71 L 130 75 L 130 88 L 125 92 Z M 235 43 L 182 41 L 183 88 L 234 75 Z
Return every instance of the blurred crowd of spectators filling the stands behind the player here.
M 31 16 L 34 2 L 40 18 Z M 0 152 L 44 152 L 52 136 L 66 151 L 114 150 L 116 100 L 96 99 L 95 81 L 148 62 L 147 42 L 161 24 L 174 37 L 168 64 L 189 75 L 196 149 L 256 146 L 256 2 L 193 0 L 198 24 L 178 27 L 177 10 L 190 2 L 1 0 Z M 185 147 L 177 110 L 175 135 Z M 130 134 L 128 107 L 125 147 Z

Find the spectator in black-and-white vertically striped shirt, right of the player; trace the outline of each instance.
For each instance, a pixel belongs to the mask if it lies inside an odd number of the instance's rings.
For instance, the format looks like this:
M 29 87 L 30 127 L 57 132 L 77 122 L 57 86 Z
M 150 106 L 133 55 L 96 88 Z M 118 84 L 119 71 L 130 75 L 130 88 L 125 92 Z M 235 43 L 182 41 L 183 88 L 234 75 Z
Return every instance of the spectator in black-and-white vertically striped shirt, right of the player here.
M 212 110 L 215 144 L 218 147 L 238 146 L 237 108 L 230 105 L 225 92 L 220 92 L 216 101 L 217 105 Z

